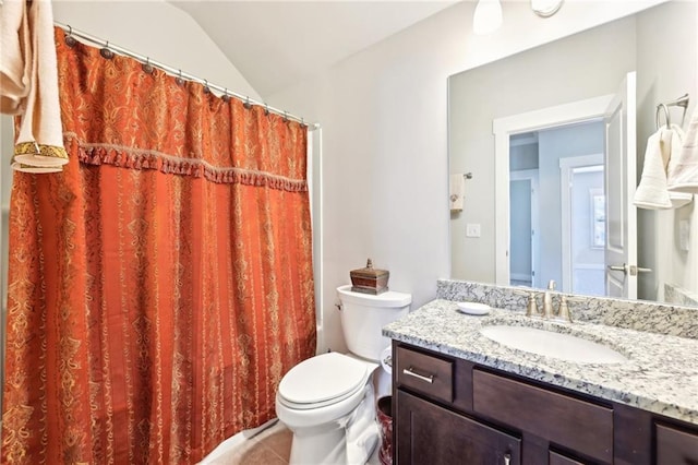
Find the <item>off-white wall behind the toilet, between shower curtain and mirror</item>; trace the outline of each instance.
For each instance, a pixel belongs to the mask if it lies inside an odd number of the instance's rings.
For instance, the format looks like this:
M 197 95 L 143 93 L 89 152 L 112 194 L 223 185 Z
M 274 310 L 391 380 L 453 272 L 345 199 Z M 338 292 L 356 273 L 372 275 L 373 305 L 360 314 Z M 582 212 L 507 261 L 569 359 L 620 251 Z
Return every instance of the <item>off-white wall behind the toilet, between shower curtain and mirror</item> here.
M 474 2 L 461 2 L 267 98 L 324 128 L 322 306 L 332 348 L 344 348 L 335 288 L 368 257 L 390 271 L 390 288 L 413 295 L 413 308 L 450 274 L 447 78 L 647 4 L 566 2 L 542 20 L 528 2 L 507 2 L 504 27 L 477 37 Z

